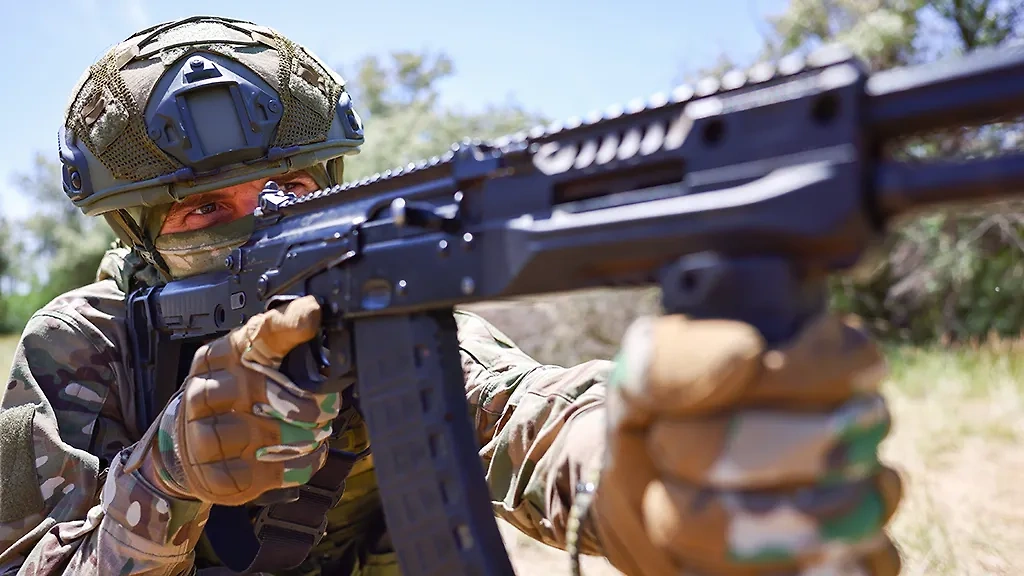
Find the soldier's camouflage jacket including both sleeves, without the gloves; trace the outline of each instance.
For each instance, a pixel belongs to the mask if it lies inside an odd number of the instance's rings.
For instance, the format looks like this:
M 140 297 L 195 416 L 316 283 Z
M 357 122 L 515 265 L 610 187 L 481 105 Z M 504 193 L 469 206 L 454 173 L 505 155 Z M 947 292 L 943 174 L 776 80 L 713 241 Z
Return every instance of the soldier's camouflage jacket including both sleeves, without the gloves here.
M 203 574 L 219 565 L 203 534 L 207 505 L 122 471 L 145 430 L 133 417 L 116 276 L 54 299 L 18 343 L 0 403 L 0 574 Z M 602 446 L 610 364 L 541 365 L 483 319 L 456 317 L 494 513 L 564 549 L 572 487 Z M 365 427 L 335 442 L 365 446 Z M 290 574 L 397 574 L 386 534 L 374 529 L 381 515 L 370 458 L 349 477 L 327 537 Z M 592 529 L 583 532 L 581 550 L 599 553 Z

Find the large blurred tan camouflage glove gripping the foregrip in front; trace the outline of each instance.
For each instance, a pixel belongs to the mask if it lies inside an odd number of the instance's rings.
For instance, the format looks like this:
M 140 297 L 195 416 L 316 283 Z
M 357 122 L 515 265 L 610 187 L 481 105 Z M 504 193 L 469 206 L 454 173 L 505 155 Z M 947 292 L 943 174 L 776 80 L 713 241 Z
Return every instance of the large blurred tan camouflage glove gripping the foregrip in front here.
M 885 374 L 830 315 L 775 351 L 738 322 L 638 320 L 590 512 L 606 557 L 628 576 L 898 574 Z

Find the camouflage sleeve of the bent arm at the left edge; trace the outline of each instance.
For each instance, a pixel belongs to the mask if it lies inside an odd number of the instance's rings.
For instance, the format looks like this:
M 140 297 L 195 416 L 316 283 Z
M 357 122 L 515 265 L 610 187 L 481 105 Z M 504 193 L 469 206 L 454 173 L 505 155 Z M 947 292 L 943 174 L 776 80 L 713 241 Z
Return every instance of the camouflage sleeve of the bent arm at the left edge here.
M 208 508 L 122 471 L 134 434 L 118 358 L 75 306 L 26 327 L 0 402 L 0 574 L 191 570 Z

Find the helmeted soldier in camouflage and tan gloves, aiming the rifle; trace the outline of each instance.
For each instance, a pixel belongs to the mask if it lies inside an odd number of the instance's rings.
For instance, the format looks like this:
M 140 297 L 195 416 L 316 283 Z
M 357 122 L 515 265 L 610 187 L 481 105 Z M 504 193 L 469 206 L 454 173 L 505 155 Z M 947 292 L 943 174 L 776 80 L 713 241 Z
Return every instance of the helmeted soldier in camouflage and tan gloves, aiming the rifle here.
M 341 78 L 269 28 L 163 24 L 84 74 L 58 140 L 67 194 L 124 248 L 22 337 L 0 411 L 0 572 L 398 574 L 372 456 L 343 470 L 322 538 L 256 557 L 211 544 L 238 535 L 211 509 L 368 446 L 350 406 L 280 371 L 316 331 L 314 300 L 204 345 L 153 424 L 135 417 L 126 293 L 222 265 L 269 179 L 299 195 L 341 182 L 362 142 Z M 494 513 L 536 540 L 628 574 L 899 572 L 884 364 L 834 316 L 774 351 L 740 323 L 641 319 L 615 362 L 571 368 L 457 320 Z

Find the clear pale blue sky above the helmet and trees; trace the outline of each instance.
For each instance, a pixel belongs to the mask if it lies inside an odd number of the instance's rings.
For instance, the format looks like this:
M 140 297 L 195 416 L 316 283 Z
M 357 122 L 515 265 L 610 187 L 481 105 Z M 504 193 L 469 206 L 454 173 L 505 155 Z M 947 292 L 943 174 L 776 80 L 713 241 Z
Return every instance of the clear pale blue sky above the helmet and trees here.
M 490 4 L 492 7 L 487 7 Z M 0 206 L 19 201 L 15 174 L 37 152 L 55 157 L 56 132 L 82 73 L 111 46 L 161 22 L 196 14 L 269 26 L 344 70 L 366 54 L 445 52 L 455 75 L 442 104 L 480 110 L 513 101 L 568 119 L 670 90 L 722 53 L 738 61 L 761 45 L 765 15 L 784 0 L 55 0 L 11 2 L 0 36 Z M 358 102 L 356 102 L 358 107 Z M 368 142 L 373 124 L 368 123 Z

